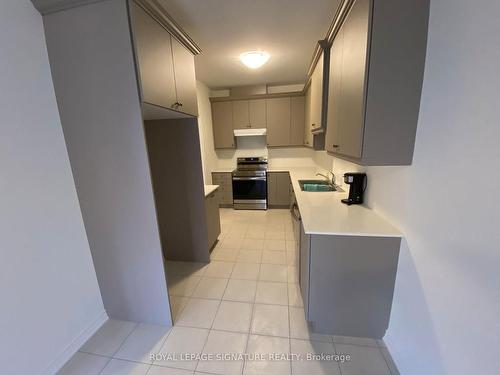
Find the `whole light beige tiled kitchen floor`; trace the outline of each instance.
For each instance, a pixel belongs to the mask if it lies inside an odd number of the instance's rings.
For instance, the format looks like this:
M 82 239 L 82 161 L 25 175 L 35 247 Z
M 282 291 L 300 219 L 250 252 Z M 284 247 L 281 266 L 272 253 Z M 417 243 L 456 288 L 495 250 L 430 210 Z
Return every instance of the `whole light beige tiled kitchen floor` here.
M 167 262 L 174 327 L 110 320 L 60 374 L 399 374 L 382 341 L 309 331 L 288 210 L 220 214 L 210 264 Z

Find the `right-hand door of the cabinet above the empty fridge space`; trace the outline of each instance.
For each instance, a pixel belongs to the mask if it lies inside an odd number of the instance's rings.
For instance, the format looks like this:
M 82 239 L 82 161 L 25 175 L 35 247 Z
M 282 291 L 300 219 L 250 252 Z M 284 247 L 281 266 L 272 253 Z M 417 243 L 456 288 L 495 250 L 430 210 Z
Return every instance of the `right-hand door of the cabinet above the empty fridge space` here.
M 176 109 L 189 115 L 198 116 L 194 56 L 177 39 L 174 37 L 171 39 L 178 103 Z

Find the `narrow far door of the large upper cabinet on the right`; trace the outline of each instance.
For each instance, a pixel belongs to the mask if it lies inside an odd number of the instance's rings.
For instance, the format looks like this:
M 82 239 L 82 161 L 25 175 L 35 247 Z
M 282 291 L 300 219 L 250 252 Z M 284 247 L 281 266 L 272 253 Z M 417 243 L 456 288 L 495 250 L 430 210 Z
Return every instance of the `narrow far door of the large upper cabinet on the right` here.
M 325 138 L 325 149 L 328 152 L 338 152 L 340 105 L 342 95 L 342 52 L 344 33 L 341 29 L 330 49 L 330 82 L 328 85 L 328 116 Z

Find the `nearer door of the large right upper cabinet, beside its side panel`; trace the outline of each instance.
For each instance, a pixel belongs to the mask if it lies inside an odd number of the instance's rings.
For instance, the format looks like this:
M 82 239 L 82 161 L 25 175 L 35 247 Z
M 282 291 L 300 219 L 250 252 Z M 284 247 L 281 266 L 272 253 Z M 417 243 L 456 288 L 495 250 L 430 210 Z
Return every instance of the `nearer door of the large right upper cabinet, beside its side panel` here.
M 342 26 L 342 94 L 338 152 L 361 157 L 370 1 L 357 0 Z

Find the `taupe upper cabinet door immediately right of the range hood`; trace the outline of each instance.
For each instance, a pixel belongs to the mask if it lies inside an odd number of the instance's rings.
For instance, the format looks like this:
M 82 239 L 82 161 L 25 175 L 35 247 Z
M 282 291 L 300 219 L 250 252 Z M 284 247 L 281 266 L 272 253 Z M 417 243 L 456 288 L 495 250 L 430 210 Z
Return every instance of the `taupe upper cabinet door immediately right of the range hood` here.
M 267 145 L 290 145 L 290 98 L 267 99 Z

